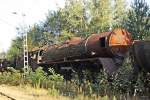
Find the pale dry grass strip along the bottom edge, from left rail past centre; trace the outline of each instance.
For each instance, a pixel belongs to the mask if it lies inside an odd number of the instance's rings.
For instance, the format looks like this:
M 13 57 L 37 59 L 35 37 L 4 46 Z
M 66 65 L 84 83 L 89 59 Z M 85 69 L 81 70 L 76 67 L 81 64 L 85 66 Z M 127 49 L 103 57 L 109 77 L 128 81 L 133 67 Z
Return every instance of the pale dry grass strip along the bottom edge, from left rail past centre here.
M 78 95 L 75 98 L 69 98 L 65 96 L 51 96 L 48 95 L 48 90 L 41 88 L 33 88 L 30 85 L 25 86 L 8 86 L 0 85 L 0 92 L 3 92 L 16 100 L 109 100 L 108 96 L 97 97 L 92 95 L 91 97 Z M 0 96 L 0 100 L 10 100 L 4 96 Z M 115 98 L 113 100 L 116 100 Z

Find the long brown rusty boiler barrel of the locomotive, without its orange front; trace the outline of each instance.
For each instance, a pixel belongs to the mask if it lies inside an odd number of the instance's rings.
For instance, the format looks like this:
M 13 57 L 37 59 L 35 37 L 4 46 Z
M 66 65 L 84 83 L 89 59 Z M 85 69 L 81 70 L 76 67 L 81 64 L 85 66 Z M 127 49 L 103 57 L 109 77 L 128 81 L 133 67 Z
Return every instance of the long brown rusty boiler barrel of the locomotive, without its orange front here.
M 72 58 L 76 59 L 96 56 L 111 56 L 107 53 L 105 48 L 103 48 L 104 52 L 101 53 L 102 49 L 100 47 L 99 38 L 103 35 L 108 36 L 109 33 L 92 34 L 85 39 L 77 39 L 76 37 L 76 41 L 75 39 L 71 39 L 61 46 L 54 48 L 50 47 L 43 55 L 43 61 L 54 62 Z

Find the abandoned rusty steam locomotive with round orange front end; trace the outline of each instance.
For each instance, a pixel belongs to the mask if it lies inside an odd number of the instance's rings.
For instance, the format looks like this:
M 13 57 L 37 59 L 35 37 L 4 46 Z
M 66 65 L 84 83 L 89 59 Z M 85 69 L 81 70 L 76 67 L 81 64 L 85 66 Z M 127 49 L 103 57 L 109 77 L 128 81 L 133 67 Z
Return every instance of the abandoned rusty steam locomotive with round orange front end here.
M 57 70 L 68 70 L 78 66 L 77 69 L 81 70 L 79 66 L 83 65 L 92 70 L 102 67 L 112 74 L 122 64 L 131 44 L 131 34 L 118 28 L 86 38 L 74 37 L 62 45 L 34 49 L 31 58 L 44 68 L 46 65 L 55 65 Z M 92 67 L 95 65 L 97 67 Z

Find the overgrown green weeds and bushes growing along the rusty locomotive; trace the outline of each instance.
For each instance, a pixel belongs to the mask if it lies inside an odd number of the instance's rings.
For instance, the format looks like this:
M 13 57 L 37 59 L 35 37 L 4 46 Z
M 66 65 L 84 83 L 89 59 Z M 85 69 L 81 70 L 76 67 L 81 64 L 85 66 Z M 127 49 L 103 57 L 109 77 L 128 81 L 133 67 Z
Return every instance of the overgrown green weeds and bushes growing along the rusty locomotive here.
M 48 90 L 48 95 L 59 97 L 68 96 L 75 100 L 112 100 L 129 98 L 129 93 L 133 87 L 131 82 L 132 67 L 126 62 L 119 68 L 113 78 L 108 78 L 104 71 L 101 71 L 97 76 L 97 82 L 91 83 L 89 80 L 84 80 L 79 83 L 78 79 L 65 81 L 63 76 L 55 73 L 53 69 L 49 69 L 49 73 L 45 73 L 41 67 L 35 72 L 29 71 L 26 77 L 20 71 L 9 68 L 9 72 L 0 73 L 0 84 L 8 85 L 30 85 L 33 88 L 45 88 Z M 136 87 L 137 94 L 144 93 L 144 77 L 139 75 Z

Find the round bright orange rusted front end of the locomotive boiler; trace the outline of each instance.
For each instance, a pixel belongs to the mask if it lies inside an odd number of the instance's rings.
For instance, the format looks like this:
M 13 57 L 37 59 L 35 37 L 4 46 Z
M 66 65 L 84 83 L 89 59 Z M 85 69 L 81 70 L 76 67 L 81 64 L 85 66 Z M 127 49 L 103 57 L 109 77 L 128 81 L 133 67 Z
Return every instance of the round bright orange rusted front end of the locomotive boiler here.
M 112 31 L 108 44 L 113 54 L 125 54 L 132 45 L 131 33 L 125 29 L 115 29 Z

